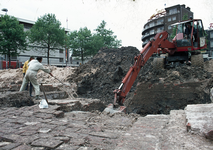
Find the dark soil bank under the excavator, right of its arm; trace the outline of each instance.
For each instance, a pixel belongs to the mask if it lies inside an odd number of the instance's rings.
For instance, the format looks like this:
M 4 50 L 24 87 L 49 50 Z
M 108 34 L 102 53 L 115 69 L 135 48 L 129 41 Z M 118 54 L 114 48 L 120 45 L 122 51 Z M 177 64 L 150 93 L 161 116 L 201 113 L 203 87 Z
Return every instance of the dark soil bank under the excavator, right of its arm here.
M 205 62 L 204 68 L 183 64 L 160 71 L 153 70 L 151 64 L 152 58 L 138 76 L 134 96 L 125 102 L 129 113 L 169 114 L 188 104 L 211 103 L 213 80 L 207 66 L 213 64 L 212 60 Z

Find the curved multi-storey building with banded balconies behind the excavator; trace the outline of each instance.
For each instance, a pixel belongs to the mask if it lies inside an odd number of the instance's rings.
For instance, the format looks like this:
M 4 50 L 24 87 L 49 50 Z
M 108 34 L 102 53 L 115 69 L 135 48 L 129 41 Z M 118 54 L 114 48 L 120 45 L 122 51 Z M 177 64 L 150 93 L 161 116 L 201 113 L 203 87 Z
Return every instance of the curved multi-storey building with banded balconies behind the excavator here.
M 144 47 L 155 35 L 162 31 L 167 31 L 170 35 L 173 32 L 170 26 L 173 23 L 183 21 L 183 17 L 187 16 L 193 18 L 193 12 L 185 5 L 175 5 L 167 7 L 150 17 L 148 22 L 144 25 L 142 31 L 142 47 Z

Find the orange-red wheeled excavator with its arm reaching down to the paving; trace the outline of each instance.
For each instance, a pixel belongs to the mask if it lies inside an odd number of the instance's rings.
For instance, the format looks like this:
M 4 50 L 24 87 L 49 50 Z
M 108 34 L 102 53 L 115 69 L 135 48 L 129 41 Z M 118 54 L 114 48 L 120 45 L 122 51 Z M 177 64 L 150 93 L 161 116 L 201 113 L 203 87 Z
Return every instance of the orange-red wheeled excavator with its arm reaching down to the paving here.
M 207 47 L 205 32 L 201 19 L 190 19 L 171 25 L 176 28 L 176 36 L 170 42 L 168 32 L 157 33 L 151 41 L 134 57 L 134 65 L 130 67 L 121 85 L 113 92 L 115 94 L 113 104 L 105 108 L 106 112 L 125 112 L 123 105 L 125 98 L 136 80 L 141 68 L 147 60 L 156 54 L 153 60 L 153 69 L 163 69 L 174 66 L 177 63 L 191 64 L 203 67 L 204 60 L 201 49 Z

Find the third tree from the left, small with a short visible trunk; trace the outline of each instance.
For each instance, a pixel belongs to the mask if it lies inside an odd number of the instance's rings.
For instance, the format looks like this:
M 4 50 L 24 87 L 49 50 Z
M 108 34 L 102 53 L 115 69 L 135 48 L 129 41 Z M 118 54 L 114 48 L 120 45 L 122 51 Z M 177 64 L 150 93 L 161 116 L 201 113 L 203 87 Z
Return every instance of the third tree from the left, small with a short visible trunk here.
M 87 27 L 80 28 L 79 31 L 69 33 L 69 47 L 72 48 L 73 56 L 80 56 L 82 64 L 84 57 L 89 56 L 89 49 L 91 48 L 92 33 Z

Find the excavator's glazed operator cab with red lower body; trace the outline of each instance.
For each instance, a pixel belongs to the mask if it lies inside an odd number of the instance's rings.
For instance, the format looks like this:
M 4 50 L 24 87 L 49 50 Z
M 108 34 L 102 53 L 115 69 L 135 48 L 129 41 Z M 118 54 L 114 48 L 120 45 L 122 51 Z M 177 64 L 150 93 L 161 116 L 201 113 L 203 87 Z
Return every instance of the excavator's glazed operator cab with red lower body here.
M 205 47 L 205 32 L 202 20 L 187 20 L 171 26 L 176 27 L 176 36 L 173 42 L 176 43 L 177 51 L 192 51 Z

